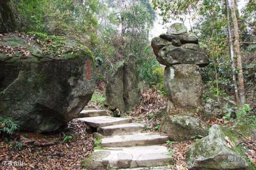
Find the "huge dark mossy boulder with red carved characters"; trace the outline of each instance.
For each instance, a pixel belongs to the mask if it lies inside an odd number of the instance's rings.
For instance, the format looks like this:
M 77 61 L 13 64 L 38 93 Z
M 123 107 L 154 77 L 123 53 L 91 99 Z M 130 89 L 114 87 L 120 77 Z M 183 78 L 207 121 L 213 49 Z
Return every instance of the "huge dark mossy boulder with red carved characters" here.
M 2 39 L 0 114 L 12 117 L 21 131 L 53 131 L 91 100 L 96 76 L 87 47 L 62 38 L 62 50 L 69 50 L 58 56 L 43 52 L 51 48 L 49 42 L 42 47 L 33 38 L 16 34 Z

